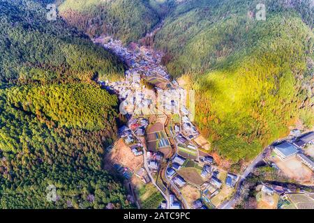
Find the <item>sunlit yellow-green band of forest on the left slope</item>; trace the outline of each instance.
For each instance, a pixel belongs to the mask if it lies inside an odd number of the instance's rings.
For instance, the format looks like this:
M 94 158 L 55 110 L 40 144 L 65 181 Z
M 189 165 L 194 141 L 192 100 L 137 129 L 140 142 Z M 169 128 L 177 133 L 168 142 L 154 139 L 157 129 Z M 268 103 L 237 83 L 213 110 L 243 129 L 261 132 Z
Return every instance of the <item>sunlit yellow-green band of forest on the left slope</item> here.
M 15 108 L 48 116 L 68 128 L 107 129 L 118 115 L 117 97 L 89 84 L 20 86 L 6 95 Z

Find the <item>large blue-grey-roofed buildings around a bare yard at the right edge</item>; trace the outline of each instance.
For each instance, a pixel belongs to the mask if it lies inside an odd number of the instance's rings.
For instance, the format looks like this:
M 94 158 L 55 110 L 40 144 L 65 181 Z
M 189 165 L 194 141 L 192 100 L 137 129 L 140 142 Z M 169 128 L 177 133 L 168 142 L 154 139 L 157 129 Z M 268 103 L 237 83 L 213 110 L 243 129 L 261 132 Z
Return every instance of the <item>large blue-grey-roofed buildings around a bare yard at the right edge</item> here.
M 303 153 L 304 147 L 308 144 L 314 144 L 314 132 L 302 134 L 290 141 L 282 141 L 280 144 L 274 146 L 274 152 L 281 158 L 281 160 L 286 160 L 295 156 L 300 160 L 300 162 L 314 171 L 313 160 Z

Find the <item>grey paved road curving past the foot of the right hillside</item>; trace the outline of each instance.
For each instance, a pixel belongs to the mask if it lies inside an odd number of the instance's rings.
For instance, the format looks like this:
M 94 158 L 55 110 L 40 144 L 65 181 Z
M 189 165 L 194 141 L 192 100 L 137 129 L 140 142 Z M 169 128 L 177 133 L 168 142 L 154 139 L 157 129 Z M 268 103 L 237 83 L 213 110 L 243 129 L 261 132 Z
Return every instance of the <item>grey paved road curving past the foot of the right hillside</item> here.
M 249 174 L 251 174 L 256 164 L 263 160 L 264 155 L 266 154 L 268 149 L 269 149 L 269 146 L 267 148 L 264 148 L 262 153 L 260 153 L 260 155 L 257 155 L 255 160 L 253 160 L 251 164 L 248 165 L 248 167 L 246 167 L 243 174 L 239 176 L 240 180 L 237 185 L 237 191 L 235 192 L 233 199 L 231 199 L 230 201 L 227 201 L 226 203 L 221 204 L 220 206 L 218 206 L 218 209 L 230 209 L 232 206 L 234 206 L 235 203 L 237 203 L 237 200 L 239 199 L 241 195 L 241 190 L 242 190 L 242 185 L 244 183 L 244 180 L 248 177 Z

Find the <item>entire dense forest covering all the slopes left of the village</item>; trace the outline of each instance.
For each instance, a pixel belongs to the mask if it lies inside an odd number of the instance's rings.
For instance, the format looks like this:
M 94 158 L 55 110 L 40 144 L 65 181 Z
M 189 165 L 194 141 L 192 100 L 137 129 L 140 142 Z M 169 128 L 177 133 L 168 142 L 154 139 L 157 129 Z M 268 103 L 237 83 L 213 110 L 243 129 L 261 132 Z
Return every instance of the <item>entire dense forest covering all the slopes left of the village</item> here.
M 123 77 L 124 64 L 41 3 L 0 2 L 0 208 L 130 208 L 103 171 L 117 97 L 91 81 Z

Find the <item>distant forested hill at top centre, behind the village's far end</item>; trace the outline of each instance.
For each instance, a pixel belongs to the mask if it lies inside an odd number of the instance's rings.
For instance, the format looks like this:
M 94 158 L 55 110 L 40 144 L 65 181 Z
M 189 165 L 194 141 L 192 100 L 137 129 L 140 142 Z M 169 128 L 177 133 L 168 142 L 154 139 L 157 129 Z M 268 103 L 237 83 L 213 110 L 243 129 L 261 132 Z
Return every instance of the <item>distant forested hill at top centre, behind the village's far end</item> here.
M 90 36 L 112 35 L 129 43 L 150 31 L 173 5 L 172 0 L 65 0 L 59 13 Z

